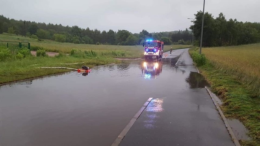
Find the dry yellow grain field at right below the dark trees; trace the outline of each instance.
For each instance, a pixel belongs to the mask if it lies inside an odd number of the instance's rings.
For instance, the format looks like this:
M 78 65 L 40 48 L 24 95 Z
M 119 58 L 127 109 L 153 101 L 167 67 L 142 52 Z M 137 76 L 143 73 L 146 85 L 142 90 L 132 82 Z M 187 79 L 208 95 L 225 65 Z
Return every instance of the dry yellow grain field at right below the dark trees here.
M 260 94 L 260 43 L 232 46 L 203 48 L 202 53 L 219 69 L 225 69 L 240 78 Z

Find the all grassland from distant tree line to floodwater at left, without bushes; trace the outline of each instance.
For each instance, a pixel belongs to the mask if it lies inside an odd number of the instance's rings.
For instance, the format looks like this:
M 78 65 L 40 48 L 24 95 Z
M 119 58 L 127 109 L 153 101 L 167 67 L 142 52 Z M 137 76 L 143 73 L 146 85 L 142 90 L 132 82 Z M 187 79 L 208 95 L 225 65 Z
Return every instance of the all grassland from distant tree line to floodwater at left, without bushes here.
M 9 42 L 9 49 L 6 49 L 6 43 L 0 42 L 0 84 L 19 81 L 28 78 L 35 78 L 45 75 L 52 75 L 70 71 L 69 69 L 55 68 L 36 68 L 36 67 L 68 67 L 81 68 L 82 65 L 88 67 L 118 63 L 120 61 L 114 58 L 140 58 L 143 57 L 143 46 L 115 46 L 115 45 L 89 45 L 59 43 L 51 40 L 37 40 L 24 38 L 16 35 L 0 34 L 1 41 L 30 42 L 31 49 L 43 49 L 49 52 L 63 52 L 70 54 L 59 55 L 56 57 L 34 57 L 26 48 L 20 49 L 19 43 Z M 26 45 L 26 43 L 22 43 Z M 24 46 L 25 47 L 25 46 Z M 169 45 L 165 50 L 173 47 L 186 48 L 188 45 Z M 78 63 L 83 64 L 60 64 L 60 63 Z M 30 66 L 33 64 L 38 64 Z

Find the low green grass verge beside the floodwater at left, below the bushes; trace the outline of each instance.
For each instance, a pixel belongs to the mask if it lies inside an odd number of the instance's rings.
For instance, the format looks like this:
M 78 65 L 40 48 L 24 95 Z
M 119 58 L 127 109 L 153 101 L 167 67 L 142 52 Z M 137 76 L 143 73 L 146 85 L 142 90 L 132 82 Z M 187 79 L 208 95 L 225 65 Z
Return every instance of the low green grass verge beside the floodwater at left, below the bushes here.
M 59 63 L 78 63 L 78 62 L 85 62 L 85 63 L 59 64 Z M 105 64 L 118 63 L 118 62 L 119 61 L 111 57 L 77 58 L 77 57 L 66 56 L 66 55 L 63 57 L 28 57 L 21 60 L 1 62 L 0 84 L 70 71 L 70 69 L 56 69 L 56 68 L 45 69 L 45 68 L 36 68 L 36 67 L 67 67 L 67 68 L 77 69 L 77 68 L 81 68 L 82 65 L 93 67 L 97 65 L 105 65 Z M 38 65 L 33 65 L 33 64 L 38 64 Z

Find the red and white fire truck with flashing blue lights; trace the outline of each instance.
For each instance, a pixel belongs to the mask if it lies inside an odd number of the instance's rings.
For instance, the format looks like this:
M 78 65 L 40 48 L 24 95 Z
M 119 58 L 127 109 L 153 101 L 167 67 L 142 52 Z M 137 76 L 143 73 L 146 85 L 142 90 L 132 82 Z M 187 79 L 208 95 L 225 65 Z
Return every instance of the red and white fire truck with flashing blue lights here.
M 146 40 L 143 43 L 144 47 L 144 56 L 145 58 L 152 58 L 156 56 L 156 58 L 161 58 L 163 56 L 163 47 L 164 42 L 160 40 Z

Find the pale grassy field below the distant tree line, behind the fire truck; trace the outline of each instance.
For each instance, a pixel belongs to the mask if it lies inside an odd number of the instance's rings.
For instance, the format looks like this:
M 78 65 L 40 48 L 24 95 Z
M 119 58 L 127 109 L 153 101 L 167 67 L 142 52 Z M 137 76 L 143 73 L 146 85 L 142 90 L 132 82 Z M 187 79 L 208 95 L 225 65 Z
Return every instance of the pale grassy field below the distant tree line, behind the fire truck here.
M 118 57 L 118 58 L 140 58 L 143 57 L 143 46 L 117 46 L 117 45 L 91 45 L 91 44 L 74 44 L 59 43 L 51 40 L 38 41 L 37 39 L 24 38 L 7 33 L 0 34 L 1 41 L 24 41 L 31 43 L 31 49 L 37 50 L 43 48 L 47 52 L 63 52 L 70 53 L 71 49 L 95 50 L 99 56 Z M 164 52 L 173 49 L 181 49 L 191 47 L 190 45 L 165 45 Z

